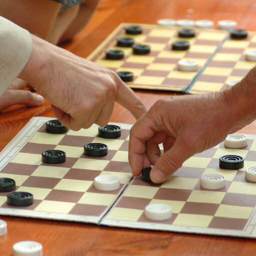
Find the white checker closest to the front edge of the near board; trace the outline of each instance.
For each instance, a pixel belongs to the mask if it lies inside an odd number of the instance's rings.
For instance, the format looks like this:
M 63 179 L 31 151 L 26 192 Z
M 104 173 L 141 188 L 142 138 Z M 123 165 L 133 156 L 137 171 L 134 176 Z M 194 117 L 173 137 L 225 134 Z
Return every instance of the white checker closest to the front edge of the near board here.
M 166 220 L 172 215 L 172 208 L 164 203 L 152 203 L 145 206 L 144 214 L 152 220 Z

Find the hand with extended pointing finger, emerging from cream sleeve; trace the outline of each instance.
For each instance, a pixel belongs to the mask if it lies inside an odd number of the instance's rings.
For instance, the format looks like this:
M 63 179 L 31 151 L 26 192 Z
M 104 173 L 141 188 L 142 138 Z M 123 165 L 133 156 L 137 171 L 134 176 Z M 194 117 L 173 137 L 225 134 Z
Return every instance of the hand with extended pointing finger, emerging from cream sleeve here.
M 20 74 L 52 103 L 56 117 L 78 130 L 108 122 L 114 101 L 136 118 L 146 112 L 136 94 L 118 75 L 69 51 L 32 36 L 29 61 Z

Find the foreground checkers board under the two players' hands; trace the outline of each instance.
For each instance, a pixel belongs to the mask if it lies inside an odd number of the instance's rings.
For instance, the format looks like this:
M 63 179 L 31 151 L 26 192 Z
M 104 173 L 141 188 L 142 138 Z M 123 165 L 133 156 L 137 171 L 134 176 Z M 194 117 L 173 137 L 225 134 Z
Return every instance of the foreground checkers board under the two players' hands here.
M 248 145 L 241 149 L 225 148 L 220 143 L 195 154 L 164 183 L 149 184 L 130 173 L 127 146 L 131 125 L 118 124 L 121 137 L 103 139 L 97 136 L 96 125 L 64 134 L 47 133 L 47 120 L 33 117 L 1 152 L 0 177 L 13 178 L 16 191 L 31 192 L 34 202 L 26 207 L 9 206 L 7 193 L 0 193 L 0 214 L 256 237 L 256 184 L 244 179 L 245 168 L 256 165 L 256 135 L 247 135 Z M 106 143 L 108 154 L 102 158 L 84 156 L 83 145 L 92 141 Z M 41 162 L 41 152 L 53 148 L 66 152 L 66 162 Z M 218 159 L 224 154 L 243 156 L 244 168 L 219 169 Z M 120 189 L 95 189 L 94 177 L 108 173 L 120 177 Z M 217 190 L 201 188 L 200 176 L 208 173 L 223 174 L 226 186 Z M 144 216 L 144 207 L 158 202 L 171 205 L 170 219 L 153 221 Z

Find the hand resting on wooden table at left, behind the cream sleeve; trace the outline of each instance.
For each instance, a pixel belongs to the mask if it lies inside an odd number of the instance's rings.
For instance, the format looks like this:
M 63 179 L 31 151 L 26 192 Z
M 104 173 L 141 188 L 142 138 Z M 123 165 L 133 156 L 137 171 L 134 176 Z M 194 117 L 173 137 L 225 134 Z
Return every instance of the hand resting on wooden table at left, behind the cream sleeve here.
M 0 111 L 14 104 L 24 104 L 26 106 L 43 104 L 44 98 L 41 95 L 23 89 L 27 85 L 24 80 L 16 78 L 0 96 Z

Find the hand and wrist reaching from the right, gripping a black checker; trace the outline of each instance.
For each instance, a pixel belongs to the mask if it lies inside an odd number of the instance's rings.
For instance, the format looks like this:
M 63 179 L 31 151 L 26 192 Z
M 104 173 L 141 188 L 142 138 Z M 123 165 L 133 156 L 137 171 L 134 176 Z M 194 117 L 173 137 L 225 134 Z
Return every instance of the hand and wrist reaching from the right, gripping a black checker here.
M 158 100 L 130 131 L 128 157 L 133 174 L 153 165 L 150 178 L 161 183 L 187 158 L 253 121 L 255 75 L 253 68 L 239 83 L 221 92 Z

